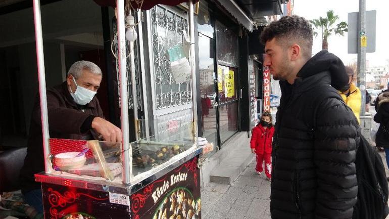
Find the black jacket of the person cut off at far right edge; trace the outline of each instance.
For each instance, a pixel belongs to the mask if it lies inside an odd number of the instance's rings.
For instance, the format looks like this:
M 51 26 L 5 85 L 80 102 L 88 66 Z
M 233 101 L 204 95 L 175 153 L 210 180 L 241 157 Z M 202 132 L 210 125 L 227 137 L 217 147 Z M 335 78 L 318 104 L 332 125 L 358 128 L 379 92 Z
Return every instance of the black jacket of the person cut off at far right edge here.
M 374 121 L 379 123 L 375 145 L 377 147 L 389 148 L 389 90 L 378 95 L 375 100 Z

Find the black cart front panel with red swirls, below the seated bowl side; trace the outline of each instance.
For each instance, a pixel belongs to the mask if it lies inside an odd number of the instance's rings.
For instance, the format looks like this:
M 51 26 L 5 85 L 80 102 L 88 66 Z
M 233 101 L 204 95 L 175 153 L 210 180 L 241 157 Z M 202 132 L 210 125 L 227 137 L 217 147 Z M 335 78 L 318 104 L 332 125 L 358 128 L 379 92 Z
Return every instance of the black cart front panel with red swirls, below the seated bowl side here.
M 69 185 L 73 183 L 69 181 Z M 82 183 L 82 182 L 81 182 Z M 42 183 L 44 218 L 129 218 L 129 196 Z

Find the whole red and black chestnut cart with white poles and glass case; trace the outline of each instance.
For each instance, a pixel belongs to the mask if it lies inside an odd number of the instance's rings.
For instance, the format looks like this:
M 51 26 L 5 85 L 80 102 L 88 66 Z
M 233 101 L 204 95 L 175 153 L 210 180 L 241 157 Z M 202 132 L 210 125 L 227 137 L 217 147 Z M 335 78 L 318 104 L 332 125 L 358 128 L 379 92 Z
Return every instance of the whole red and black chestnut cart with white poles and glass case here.
M 192 120 L 154 121 L 153 136 L 129 141 L 125 4 L 116 1 L 122 143 L 51 139 L 48 132 L 40 2 L 33 0 L 45 171 L 41 182 L 45 218 L 201 218 L 196 92 Z M 189 6 L 189 66 L 194 74 L 193 1 Z M 127 26 L 128 27 L 128 26 Z M 129 42 L 130 48 L 134 43 Z M 127 52 L 127 53 L 126 53 Z M 150 121 L 138 121 L 149 122 Z M 164 125 L 160 125 L 163 123 Z

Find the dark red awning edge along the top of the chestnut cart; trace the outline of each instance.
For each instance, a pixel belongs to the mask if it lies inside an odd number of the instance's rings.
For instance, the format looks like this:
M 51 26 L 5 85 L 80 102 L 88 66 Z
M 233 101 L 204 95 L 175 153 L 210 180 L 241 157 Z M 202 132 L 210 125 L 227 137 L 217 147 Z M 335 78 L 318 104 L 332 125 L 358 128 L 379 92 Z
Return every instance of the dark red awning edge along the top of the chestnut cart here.
M 110 6 L 112 8 L 116 8 L 115 0 L 93 0 L 93 1 L 102 7 Z M 141 6 L 137 5 L 136 1 L 131 1 L 131 4 L 134 9 L 139 9 L 141 7 L 141 10 L 149 10 L 156 5 L 176 6 L 181 3 L 187 3 L 187 2 L 188 1 L 185 0 L 144 0 Z M 193 4 L 197 2 L 199 2 L 199 0 L 193 0 Z

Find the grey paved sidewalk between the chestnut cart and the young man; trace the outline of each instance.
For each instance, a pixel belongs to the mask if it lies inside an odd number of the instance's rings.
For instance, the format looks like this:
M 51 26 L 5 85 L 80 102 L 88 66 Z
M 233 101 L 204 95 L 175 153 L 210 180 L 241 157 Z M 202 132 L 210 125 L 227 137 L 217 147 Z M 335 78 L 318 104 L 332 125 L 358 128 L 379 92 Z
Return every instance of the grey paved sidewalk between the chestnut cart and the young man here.
M 385 153 L 380 153 L 386 167 Z M 253 156 L 254 157 L 254 156 Z M 255 173 L 253 158 L 231 185 L 210 183 L 202 188 L 203 219 L 270 219 L 270 182 Z M 385 219 L 389 219 L 389 216 Z

